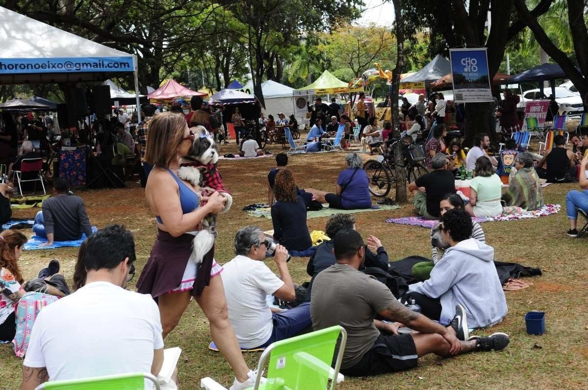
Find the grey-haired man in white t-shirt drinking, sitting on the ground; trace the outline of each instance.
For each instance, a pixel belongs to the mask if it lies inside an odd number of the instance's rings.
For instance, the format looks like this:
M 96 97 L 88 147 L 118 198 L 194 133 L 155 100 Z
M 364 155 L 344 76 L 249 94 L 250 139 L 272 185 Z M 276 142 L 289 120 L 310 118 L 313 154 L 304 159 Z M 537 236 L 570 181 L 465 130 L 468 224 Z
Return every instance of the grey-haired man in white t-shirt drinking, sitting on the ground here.
M 311 325 L 310 302 L 282 312 L 270 309 L 267 295 L 293 301 L 296 293 L 286 266 L 288 251 L 285 247 L 278 245 L 273 258 L 278 265 L 279 278 L 263 263 L 268 242 L 273 242 L 267 240 L 260 227 L 240 229 L 235 236 L 237 255 L 223 265 L 229 321 L 241 348 L 267 347 Z

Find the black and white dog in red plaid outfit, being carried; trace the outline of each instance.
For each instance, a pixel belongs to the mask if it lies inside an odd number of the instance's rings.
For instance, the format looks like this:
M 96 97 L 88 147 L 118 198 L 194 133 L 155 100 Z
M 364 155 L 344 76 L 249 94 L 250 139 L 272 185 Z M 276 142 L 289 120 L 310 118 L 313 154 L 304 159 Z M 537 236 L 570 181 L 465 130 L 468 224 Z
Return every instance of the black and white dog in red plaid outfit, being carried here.
M 191 128 L 195 135 L 194 142 L 190 149 L 189 155 L 182 158 L 178 177 L 189 181 L 193 186 L 199 188 L 199 197 L 209 196 L 214 191 L 226 198 L 225 209 L 221 213 L 229 211 L 233 204 L 233 197 L 225 188 L 220 173 L 216 169 L 218 162 L 218 153 L 215 149 L 215 140 L 213 136 L 202 126 Z M 202 258 L 211 250 L 216 236 L 216 214 L 208 214 L 202 220 L 202 230 L 191 232 L 194 234 L 192 241 L 192 255 L 190 260 L 196 264 L 202 262 Z

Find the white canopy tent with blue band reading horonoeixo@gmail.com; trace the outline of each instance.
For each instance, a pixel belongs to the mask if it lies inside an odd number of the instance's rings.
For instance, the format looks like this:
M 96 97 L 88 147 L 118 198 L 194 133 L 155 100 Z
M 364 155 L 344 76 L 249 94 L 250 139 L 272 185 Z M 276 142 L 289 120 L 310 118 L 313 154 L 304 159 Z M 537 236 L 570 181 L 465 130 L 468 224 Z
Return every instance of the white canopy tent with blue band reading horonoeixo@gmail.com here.
M 0 84 L 103 82 L 114 73 L 133 73 L 139 106 L 135 55 L 4 7 L 0 7 L 0 42 Z

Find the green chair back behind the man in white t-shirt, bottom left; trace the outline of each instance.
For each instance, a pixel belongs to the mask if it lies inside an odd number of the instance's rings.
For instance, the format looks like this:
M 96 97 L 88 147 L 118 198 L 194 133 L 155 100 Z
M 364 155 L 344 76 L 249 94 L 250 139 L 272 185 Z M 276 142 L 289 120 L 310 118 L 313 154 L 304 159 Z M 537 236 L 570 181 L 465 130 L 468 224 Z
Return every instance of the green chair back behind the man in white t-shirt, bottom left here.
M 153 382 L 153 389 L 160 389 L 159 382 L 155 376 L 148 372 L 131 372 L 129 374 L 45 382 L 36 386 L 35 390 L 144 390 L 144 379 L 149 379 L 149 381 Z

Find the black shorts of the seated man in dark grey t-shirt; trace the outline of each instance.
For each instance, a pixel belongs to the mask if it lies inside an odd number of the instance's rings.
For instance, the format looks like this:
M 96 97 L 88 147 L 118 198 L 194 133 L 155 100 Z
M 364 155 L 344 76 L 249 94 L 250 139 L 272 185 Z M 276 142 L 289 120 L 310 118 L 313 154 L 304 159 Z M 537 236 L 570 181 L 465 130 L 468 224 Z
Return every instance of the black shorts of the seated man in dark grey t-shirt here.
M 412 335 L 380 334 L 372 349 L 363 355 L 358 364 L 340 371 L 349 376 L 380 375 L 415 368 L 418 361 Z

